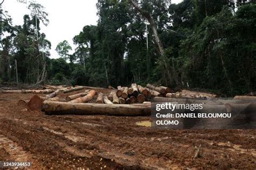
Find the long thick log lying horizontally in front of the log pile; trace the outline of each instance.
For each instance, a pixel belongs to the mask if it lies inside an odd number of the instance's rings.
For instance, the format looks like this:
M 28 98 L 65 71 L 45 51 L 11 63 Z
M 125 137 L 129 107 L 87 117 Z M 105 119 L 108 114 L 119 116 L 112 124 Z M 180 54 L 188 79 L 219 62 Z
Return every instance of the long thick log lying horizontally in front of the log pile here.
M 79 115 L 114 115 L 114 116 L 147 116 L 151 113 L 149 104 L 96 104 L 65 103 L 44 101 L 42 110 L 46 114 L 79 114 Z

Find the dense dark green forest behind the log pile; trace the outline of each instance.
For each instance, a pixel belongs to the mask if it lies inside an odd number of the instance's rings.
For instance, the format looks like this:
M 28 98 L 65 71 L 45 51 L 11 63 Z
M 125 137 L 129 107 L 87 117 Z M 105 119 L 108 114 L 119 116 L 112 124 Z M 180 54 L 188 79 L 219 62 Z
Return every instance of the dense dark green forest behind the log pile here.
M 48 13 L 40 4 L 29 9 L 23 25 L 12 25 L 1 11 L 0 83 L 154 83 L 227 96 L 256 91 L 254 1 L 99 0 L 98 24 L 74 35 L 73 54 L 68 41 L 60 42 L 58 59 L 50 58 L 51 42 L 40 30 Z

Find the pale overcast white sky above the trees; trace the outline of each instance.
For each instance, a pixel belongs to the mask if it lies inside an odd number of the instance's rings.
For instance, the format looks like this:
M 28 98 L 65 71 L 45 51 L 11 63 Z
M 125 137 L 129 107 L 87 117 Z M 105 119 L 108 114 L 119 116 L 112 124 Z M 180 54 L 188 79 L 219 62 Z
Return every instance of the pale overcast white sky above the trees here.
M 27 0 L 28 4 L 30 0 Z M 51 58 L 58 58 L 55 51 L 56 46 L 63 40 L 68 40 L 72 48 L 73 37 L 82 31 L 85 25 L 97 24 L 97 0 L 36 0 L 45 7 L 49 13 L 50 23 L 47 27 L 41 26 L 46 34 L 46 39 L 51 41 Z M 172 3 L 179 3 L 181 0 L 174 0 Z M 29 14 L 26 8 L 28 4 L 18 3 L 17 0 L 5 0 L 3 10 L 9 12 L 14 25 L 23 24 L 23 16 Z

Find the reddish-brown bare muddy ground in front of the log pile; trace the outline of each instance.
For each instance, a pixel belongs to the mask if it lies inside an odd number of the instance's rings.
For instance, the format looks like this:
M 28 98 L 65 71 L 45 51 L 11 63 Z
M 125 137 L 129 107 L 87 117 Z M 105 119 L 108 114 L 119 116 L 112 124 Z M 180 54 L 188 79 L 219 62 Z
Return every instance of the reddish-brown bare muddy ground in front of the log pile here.
M 150 117 L 16 110 L 31 97 L 0 94 L 0 161 L 30 161 L 32 169 L 256 168 L 256 130 L 157 130 L 136 125 Z

